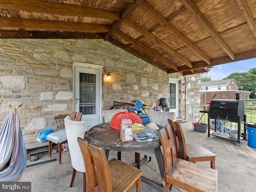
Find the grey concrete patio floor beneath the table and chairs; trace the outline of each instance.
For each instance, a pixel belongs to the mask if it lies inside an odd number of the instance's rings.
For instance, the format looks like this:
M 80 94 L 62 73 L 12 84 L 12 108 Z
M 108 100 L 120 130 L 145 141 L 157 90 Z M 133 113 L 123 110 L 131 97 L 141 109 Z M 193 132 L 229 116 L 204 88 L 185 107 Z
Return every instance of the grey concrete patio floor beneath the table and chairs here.
M 242 141 L 242 146 L 237 146 L 231 140 L 216 136 L 207 136 L 207 133 L 192 130 L 192 122 L 181 124 L 186 142 L 196 142 L 204 148 L 215 153 L 216 170 L 218 170 L 219 192 L 256 192 L 256 149 L 247 146 Z M 27 164 L 34 164 L 49 160 L 48 152 L 38 154 L 40 159 L 36 162 L 27 160 Z M 141 156 L 142 157 L 142 156 Z M 32 182 L 32 192 L 82 192 L 83 176 L 77 172 L 73 187 L 70 188 L 72 177 L 72 165 L 69 152 L 62 152 L 62 164 L 58 164 L 58 154 L 53 154 L 56 161 L 31 166 L 25 169 L 20 182 Z M 122 161 L 135 165 L 134 152 L 122 152 Z M 201 166 L 210 168 L 210 162 L 198 162 Z M 161 177 L 155 158 L 151 162 L 142 165 L 143 176 L 161 183 Z M 131 190 L 135 192 L 135 188 Z M 141 192 L 158 192 L 142 182 Z M 174 186 L 172 192 L 183 191 Z

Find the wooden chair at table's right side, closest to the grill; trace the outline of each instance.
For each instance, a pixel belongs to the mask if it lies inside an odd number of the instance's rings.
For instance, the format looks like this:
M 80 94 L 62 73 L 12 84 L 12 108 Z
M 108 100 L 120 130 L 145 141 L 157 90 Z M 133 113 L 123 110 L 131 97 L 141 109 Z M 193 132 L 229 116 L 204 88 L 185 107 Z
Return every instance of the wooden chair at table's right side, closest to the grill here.
M 211 168 L 215 169 L 215 158 L 217 155 L 196 143 L 186 144 L 180 124 L 170 119 L 168 119 L 168 122 L 175 137 L 177 157 L 194 163 L 210 161 Z

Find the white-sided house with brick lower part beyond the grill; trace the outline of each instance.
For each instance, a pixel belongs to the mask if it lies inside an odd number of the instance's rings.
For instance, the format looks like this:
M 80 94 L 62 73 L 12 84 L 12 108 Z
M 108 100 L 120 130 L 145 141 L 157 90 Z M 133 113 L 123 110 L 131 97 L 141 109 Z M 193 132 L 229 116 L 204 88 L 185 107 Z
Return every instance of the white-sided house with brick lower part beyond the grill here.
M 240 99 L 249 99 L 249 91 L 240 91 L 234 79 L 216 80 L 201 82 L 202 103 L 214 99 L 236 99 L 236 93 L 240 94 Z

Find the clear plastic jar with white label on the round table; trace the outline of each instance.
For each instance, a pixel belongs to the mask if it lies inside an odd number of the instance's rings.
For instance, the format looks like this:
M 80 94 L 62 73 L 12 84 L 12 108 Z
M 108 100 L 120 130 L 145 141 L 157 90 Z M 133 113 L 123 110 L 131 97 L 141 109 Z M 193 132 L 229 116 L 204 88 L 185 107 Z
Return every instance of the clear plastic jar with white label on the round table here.
M 132 120 L 122 119 L 121 124 L 120 124 L 120 139 L 123 142 L 133 141 Z

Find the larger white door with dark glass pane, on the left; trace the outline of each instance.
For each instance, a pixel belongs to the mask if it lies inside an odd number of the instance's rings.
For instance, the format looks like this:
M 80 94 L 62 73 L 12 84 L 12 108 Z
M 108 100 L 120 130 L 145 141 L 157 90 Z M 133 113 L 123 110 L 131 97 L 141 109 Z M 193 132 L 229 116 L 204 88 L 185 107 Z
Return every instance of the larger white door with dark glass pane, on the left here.
M 74 67 L 74 108 L 87 130 L 101 123 L 101 74 L 100 68 Z

